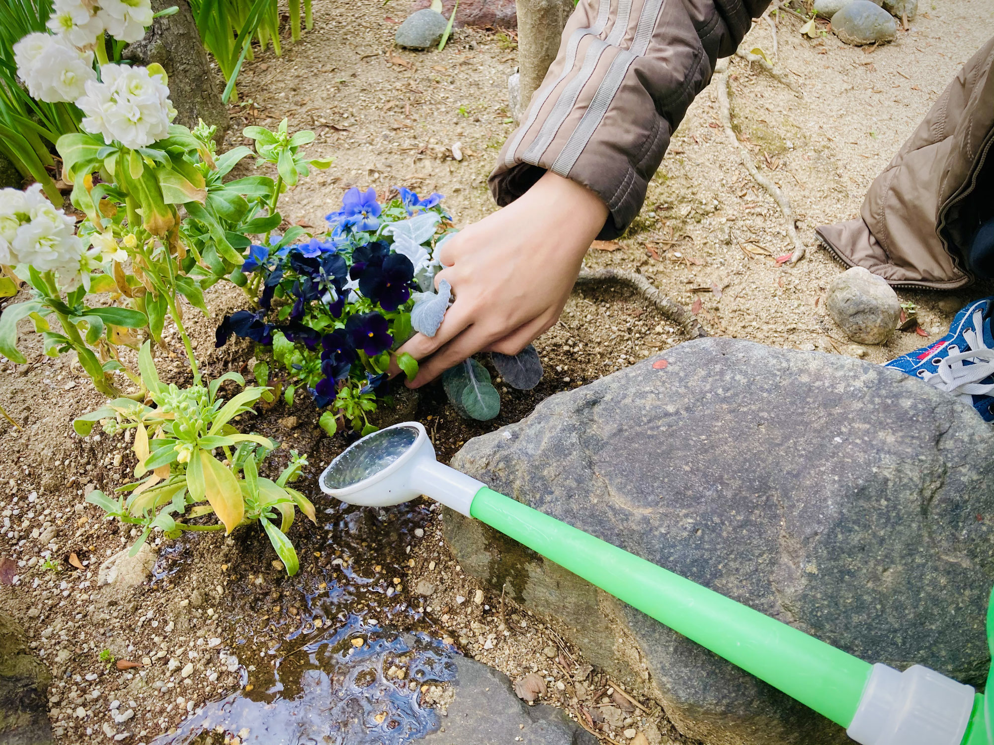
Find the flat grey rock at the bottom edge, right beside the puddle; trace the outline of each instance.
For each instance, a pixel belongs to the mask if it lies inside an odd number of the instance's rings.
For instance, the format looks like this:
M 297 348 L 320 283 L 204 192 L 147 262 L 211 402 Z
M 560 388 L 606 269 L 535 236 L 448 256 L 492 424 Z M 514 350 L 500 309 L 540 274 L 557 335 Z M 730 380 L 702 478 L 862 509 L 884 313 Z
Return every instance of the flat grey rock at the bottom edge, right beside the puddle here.
M 417 740 L 427 745 L 596 745 L 596 738 L 563 709 L 529 706 L 503 672 L 456 658 L 453 698 L 441 728 Z M 519 739 L 520 738 L 520 739 Z

